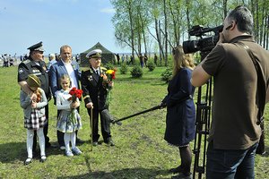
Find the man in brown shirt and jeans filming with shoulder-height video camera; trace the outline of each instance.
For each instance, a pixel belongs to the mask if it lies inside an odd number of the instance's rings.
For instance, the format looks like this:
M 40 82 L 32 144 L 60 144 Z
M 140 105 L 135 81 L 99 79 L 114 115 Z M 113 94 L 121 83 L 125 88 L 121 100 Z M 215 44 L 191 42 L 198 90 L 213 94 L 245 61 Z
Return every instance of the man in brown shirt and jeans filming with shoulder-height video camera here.
M 247 7 L 240 5 L 232 10 L 223 26 L 217 46 L 196 66 L 191 78 L 195 87 L 212 76 L 214 79 L 206 178 L 254 178 L 255 153 L 261 136 L 259 101 L 265 103 L 268 90 L 269 52 L 251 35 L 253 16 Z M 264 98 L 257 95 L 261 90 L 257 87 L 256 66 L 246 47 L 261 68 Z

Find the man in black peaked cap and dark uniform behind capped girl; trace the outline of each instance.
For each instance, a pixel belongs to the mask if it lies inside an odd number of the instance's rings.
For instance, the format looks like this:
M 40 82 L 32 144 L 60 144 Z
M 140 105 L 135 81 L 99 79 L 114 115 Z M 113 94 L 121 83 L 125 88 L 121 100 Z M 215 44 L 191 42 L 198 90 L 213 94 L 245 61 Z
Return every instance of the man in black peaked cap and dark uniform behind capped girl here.
M 21 86 L 21 89 L 27 94 L 29 94 L 32 99 L 37 98 L 27 85 L 28 75 L 35 74 L 37 77 L 39 77 L 39 80 L 41 82 L 41 89 L 45 91 L 46 97 L 49 100 L 51 98 L 51 93 L 49 90 L 47 67 L 45 62 L 43 61 L 44 48 L 42 46 L 42 42 L 39 42 L 38 44 L 35 44 L 27 49 L 30 50 L 30 55 L 28 59 L 22 61 L 22 63 L 18 66 L 18 83 Z M 48 120 L 48 105 L 45 107 L 45 110 L 46 118 Z M 48 148 L 51 146 L 48 138 L 48 123 L 44 125 L 44 136 L 46 148 Z M 36 146 L 37 135 L 35 132 L 33 150 L 36 149 Z

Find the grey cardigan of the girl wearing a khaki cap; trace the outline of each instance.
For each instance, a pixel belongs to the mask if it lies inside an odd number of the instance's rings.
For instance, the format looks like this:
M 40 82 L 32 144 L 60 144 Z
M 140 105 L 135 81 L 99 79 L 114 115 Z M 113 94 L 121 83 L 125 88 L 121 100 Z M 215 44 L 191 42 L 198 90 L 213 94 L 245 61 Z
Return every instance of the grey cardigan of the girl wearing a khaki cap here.
M 45 115 L 45 106 L 48 105 L 48 100 L 46 98 L 46 94 L 44 90 L 41 89 L 40 91 L 41 91 L 42 98 L 41 98 L 41 101 L 37 103 L 37 109 L 39 109 L 38 110 L 39 117 Z M 22 90 L 20 93 L 20 102 L 21 102 L 21 107 L 23 108 L 24 119 L 30 119 L 30 112 L 31 112 L 30 96 Z

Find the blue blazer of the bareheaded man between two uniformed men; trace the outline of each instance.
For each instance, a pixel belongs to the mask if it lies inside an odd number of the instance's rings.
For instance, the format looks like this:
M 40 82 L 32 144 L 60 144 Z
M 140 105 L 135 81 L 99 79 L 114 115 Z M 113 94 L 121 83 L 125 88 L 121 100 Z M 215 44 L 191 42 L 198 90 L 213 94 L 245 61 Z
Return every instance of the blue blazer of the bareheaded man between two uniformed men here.
M 81 78 L 81 72 L 79 70 L 79 64 L 77 64 L 75 61 L 72 61 L 71 64 L 74 69 L 76 81 L 78 82 L 77 86 L 80 89 L 79 80 Z M 68 74 L 68 72 L 62 60 L 59 60 L 56 64 L 52 64 L 50 66 L 49 69 L 50 88 L 54 98 L 56 98 L 56 91 L 62 89 L 61 84 L 59 82 L 59 78 L 61 78 L 64 74 Z

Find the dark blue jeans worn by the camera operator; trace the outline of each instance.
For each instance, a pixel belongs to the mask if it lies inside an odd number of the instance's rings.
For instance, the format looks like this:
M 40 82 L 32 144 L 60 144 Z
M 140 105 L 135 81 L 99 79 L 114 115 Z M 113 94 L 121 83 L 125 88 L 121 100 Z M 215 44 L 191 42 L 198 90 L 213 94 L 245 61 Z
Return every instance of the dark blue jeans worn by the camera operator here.
M 206 152 L 206 178 L 255 178 L 254 162 L 257 145 L 258 143 L 248 149 L 213 149 L 213 142 L 210 142 Z

